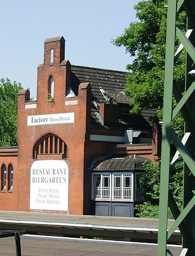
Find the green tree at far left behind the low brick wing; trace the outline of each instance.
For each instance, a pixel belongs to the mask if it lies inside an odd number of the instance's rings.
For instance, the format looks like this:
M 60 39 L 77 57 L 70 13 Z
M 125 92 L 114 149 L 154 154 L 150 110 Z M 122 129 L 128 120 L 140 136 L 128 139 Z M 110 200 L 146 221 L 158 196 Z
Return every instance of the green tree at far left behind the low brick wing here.
M 17 145 L 17 104 L 21 84 L 0 80 L 0 146 Z

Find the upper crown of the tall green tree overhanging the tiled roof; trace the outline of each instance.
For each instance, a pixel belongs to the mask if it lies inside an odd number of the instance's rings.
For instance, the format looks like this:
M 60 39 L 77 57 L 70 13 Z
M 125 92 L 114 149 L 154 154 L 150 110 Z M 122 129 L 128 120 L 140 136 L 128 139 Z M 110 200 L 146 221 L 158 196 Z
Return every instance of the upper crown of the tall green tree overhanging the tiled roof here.
M 135 56 L 132 64 L 127 65 L 131 71 L 127 76 L 125 92 L 131 96 L 132 113 L 140 113 L 143 108 L 158 110 L 161 118 L 163 108 L 163 85 L 165 73 L 166 15 L 167 1 L 140 1 L 135 5 L 137 18 L 124 34 L 112 40 L 116 46 L 124 46 L 126 53 Z M 177 25 L 186 30 L 185 12 L 180 12 Z M 176 49 L 179 41 L 176 41 Z M 174 79 L 180 89 L 185 85 L 185 51 L 180 55 L 174 67 Z

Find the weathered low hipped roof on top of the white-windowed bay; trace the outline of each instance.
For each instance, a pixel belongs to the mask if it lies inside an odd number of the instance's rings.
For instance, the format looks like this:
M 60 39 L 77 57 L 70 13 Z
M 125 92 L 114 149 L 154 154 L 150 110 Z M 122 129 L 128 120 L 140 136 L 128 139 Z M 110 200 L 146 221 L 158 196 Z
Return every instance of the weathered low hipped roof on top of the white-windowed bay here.
M 140 155 L 112 157 L 101 161 L 93 171 L 144 171 L 143 163 L 149 159 Z

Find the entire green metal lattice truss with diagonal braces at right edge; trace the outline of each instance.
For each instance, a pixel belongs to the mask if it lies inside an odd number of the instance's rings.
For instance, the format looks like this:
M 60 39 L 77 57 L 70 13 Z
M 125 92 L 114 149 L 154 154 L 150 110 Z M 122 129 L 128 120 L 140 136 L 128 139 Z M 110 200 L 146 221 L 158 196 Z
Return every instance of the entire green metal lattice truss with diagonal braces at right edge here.
M 177 13 L 184 9 L 188 17 L 187 32 L 176 26 Z M 161 148 L 161 177 L 160 177 L 160 213 L 158 227 L 158 256 L 172 255 L 166 250 L 166 244 L 174 230 L 179 227 L 183 238 L 183 250 L 180 255 L 195 255 L 195 0 L 168 0 L 168 18 L 166 31 L 165 56 L 165 88 L 163 102 L 163 132 Z M 175 54 L 176 37 L 180 41 Z M 190 39 L 189 39 L 190 38 Z M 186 50 L 186 85 L 185 94 L 179 90 L 174 81 L 174 64 L 182 52 Z M 195 73 L 195 71 L 194 71 Z M 172 110 L 172 96 L 177 106 Z M 185 136 L 181 141 L 176 132 L 171 129 L 172 120 L 181 112 L 185 120 Z M 171 141 L 177 152 L 170 165 Z M 183 210 L 180 212 L 176 201 L 169 191 L 169 175 L 174 164 L 181 155 L 184 165 L 183 175 Z M 168 230 L 168 206 L 175 222 Z

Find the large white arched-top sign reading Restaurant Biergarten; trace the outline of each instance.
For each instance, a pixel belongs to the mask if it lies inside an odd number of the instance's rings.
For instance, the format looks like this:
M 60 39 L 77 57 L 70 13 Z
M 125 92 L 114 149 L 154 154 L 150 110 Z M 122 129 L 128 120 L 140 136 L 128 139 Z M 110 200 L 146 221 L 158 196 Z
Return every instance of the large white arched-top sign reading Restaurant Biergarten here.
M 40 160 L 30 169 L 30 209 L 68 211 L 68 165 Z

